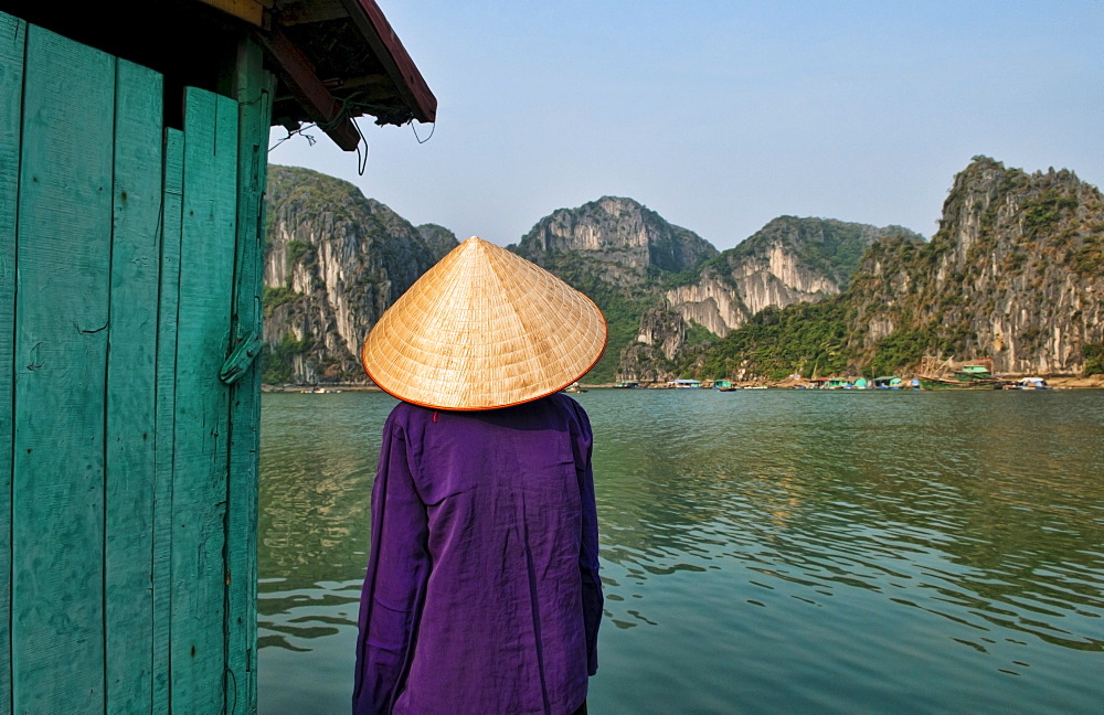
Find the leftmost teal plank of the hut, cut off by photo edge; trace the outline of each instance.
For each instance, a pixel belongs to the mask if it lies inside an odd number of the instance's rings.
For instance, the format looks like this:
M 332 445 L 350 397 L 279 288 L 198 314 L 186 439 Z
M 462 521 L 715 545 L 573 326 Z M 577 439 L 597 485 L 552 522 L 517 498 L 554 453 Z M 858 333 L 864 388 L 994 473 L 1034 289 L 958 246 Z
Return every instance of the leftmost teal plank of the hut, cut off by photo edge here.
M 15 205 L 26 23 L 0 12 L 0 712 L 11 692 L 12 380 L 15 363 Z

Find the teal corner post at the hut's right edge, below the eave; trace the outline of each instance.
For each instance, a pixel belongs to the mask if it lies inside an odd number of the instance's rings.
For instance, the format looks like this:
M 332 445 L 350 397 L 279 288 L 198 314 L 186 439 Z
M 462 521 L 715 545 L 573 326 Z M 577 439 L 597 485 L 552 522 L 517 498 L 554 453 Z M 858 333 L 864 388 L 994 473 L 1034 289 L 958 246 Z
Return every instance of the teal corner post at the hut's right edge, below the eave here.
M 272 119 L 272 75 L 261 46 L 238 47 L 234 94 L 238 102 L 237 245 L 234 270 L 235 340 L 261 334 L 264 263 L 264 190 Z M 229 713 L 255 713 L 257 704 L 257 474 L 259 471 L 259 361 L 231 391 L 230 494 L 226 523 L 226 683 Z

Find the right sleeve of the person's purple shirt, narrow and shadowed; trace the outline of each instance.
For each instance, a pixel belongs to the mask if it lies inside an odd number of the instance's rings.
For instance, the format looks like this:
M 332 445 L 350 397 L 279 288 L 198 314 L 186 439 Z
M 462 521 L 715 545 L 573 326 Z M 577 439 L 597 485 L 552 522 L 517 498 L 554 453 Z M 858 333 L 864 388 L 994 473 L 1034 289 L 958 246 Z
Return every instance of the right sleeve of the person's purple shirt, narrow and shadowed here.
M 576 438 L 576 472 L 583 508 L 583 533 L 580 542 L 578 572 L 583 586 L 583 625 L 586 629 L 586 672 L 598 670 L 598 625 L 602 622 L 602 579 L 598 577 L 598 511 L 594 498 L 594 470 L 591 452 L 594 437 L 582 407 L 576 408 L 581 431 Z

